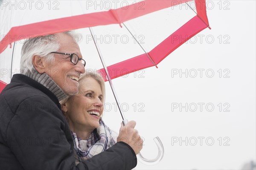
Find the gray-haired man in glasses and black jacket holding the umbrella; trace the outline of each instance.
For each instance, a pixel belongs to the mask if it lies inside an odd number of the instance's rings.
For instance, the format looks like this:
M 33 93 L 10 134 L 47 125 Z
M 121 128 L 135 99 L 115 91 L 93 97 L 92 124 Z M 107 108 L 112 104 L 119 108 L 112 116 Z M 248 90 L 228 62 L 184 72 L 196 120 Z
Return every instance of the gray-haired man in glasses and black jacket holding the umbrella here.
M 59 101 L 78 93 L 85 61 L 72 32 L 27 40 L 20 69 L 0 94 L 0 169 L 132 169 L 142 149 L 135 122 L 116 145 L 75 164 L 73 139 Z M 124 142 L 120 141 L 121 139 Z M 134 142 L 138 139 L 138 142 Z

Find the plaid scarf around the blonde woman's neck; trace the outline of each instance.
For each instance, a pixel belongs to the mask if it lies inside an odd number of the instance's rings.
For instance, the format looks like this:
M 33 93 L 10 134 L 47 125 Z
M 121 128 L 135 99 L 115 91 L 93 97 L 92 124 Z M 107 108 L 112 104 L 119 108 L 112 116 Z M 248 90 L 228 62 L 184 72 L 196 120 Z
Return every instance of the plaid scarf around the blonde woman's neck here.
M 71 134 L 73 136 L 75 157 L 79 162 L 90 159 L 115 144 L 111 130 L 102 119 L 99 120 L 99 127 L 94 129 L 86 140 L 78 138 L 76 133 L 72 131 Z

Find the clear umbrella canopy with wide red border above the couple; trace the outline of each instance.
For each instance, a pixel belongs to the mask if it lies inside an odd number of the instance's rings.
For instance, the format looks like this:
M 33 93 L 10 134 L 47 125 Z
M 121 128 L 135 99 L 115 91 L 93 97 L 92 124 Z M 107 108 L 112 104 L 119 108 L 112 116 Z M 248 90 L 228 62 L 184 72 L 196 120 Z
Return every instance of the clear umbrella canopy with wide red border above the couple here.
M 140 45 L 147 46 L 146 49 L 149 51 L 142 51 L 139 48 L 140 51 L 137 52 L 138 50 L 133 48 L 136 51 L 133 54 L 119 53 L 112 59 L 108 57 L 108 61 L 111 61 L 109 62 L 111 64 L 107 64 L 108 71 L 111 79 L 114 79 L 157 66 L 172 51 L 204 28 L 209 27 L 205 0 L 145 0 L 118 1 L 118 3 L 117 1 L 98 3 L 96 1 L 36 1 L 35 4 L 24 2 L 3 1 L 1 4 L 1 13 L 4 13 L 4 15 L 1 14 L 0 29 L 2 35 L 1 89 L 10 82 L 12 74 L 19 72 L 20 57 L 16 51 L 20 51 L 20 47 L 15 49 L 14 42 L 22 44 L 25 38 L 93 27 L 96 35 L 100 35 L 98 39 L 101 38 L 105 42 L 111 38 L 112 42 L 118 39 L 122 46 L 131 42 L 137 42 L 136 48 L 140 42 Z M 187 8 L 181 10 L 179 4 Z M 121 28 L 122 23 L 127 24 L 128 30 Z M 161 28 L 165 28 L 164 31 Z M 170 31 L 166 31 L 166 28 L 170 28 Z M 90 35 L 90 32 L 87 30 L 83 34 Z M 91 37 L 85 37 L 85 39 L 87 42 L 92 40 Z M 11 48 L 7 48 L 8 45 Z M 111 51 L 117 51 L 116 49 L 113 47 Z M 113 55 L 105 51 L 103 48 L 103 54 Z M 123 59 L 121 56 L 126 58 Z M 107 80 L 105 71 L 99 69 L 99 72 Z

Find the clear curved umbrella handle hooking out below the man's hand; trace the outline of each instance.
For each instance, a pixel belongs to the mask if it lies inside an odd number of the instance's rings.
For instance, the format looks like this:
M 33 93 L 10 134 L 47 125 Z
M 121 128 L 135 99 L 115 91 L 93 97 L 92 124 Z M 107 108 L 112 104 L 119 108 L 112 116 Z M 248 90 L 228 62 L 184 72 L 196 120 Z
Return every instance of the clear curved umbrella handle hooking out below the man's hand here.
M 126 125 L 127 122 L 128 122 L 127 119 L 122 121 L 123 125 Z M 141 163 L 147 164 L 147 165 L 153 165 L 153 164 L 157 164 L 163 158 L 163 154 L 164 154 L 163 143 L 161 142 L 161 140 L 158 136 L 154 138 L 154 142 L 157 144 L 157 148 L 158 148 L 157 157 L 154 159 L 146 159 L 141 155 L 141 153 L 138 153 L 138 155 L 139 155 L 138 160 Z

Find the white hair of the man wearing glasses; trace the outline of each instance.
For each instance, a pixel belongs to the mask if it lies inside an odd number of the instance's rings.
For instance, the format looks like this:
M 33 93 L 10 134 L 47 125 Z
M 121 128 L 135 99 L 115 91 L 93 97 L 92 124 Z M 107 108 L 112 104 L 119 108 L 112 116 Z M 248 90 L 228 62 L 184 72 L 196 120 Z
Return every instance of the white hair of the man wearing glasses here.
M 67 31 L 64 34 L 72 37 L 77 43 L 82 39 L 81 34 L 76 34 L 74 31 Z M 20 73 L 25 74 L 27 70 L 35 70 L 32 65 L 32 57 L 35 55 L 45 57 L 48 63 L 53 63 L 54 54 L 51 52 L 58 51 L 59 48 L 56 34 L 27 39 L 21 49 Z

